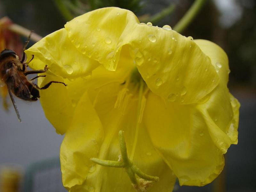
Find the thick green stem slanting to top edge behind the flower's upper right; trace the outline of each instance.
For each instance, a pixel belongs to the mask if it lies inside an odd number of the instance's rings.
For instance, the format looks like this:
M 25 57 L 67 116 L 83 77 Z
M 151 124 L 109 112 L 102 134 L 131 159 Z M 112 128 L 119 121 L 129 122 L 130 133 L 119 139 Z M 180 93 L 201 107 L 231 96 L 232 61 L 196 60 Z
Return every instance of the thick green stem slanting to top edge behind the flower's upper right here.
M 196 14 L 201 10 L 206 1 L 207 0 L 196 0 L 182 19 L 174 26 L 173 30 L 181 33 L 188 27 L 189 23 L 195 18 Z

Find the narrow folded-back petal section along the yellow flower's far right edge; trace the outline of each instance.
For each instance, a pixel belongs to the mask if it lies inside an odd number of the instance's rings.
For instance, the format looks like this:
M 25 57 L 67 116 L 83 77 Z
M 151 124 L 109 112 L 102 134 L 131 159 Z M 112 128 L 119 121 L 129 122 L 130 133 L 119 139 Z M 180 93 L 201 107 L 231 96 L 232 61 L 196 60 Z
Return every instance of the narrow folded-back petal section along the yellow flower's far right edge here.
M 219 85 L 203 99 L 198 108 L 205 119 L 215 145 L 226 153 L 231 144 L 237 144 L 239 102 L 229 93 L 228 57 L 216 44 L 206 40 L 196 40 L 202 51 L 211 58 L 220 76 Z

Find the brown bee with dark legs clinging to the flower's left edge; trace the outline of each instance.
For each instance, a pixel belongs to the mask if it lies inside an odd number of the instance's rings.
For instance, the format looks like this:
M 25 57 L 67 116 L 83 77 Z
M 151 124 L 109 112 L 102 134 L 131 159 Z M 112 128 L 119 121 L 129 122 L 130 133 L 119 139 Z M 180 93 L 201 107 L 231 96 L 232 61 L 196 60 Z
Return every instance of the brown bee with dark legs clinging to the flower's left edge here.
M 60 83 L 67 86 L 63 82 L 50 81 L 43 87 L 39 88 L 36 84 L 33 84 L 31 82 L 32 80 L 38 77 L 45 77 L 45 75 L 36 76 L 32 78 L 30 81 L 27 79 L 26 76 L 29 74 L 44 73 L 48 70 L 47 65 L 42 70 L 26 70 L 29 62 L 31 62 L 34 59 L 34 55 L 32 55 L 32 59 L 28 61 L 28 63 L 25 62 L 26 55 L 24 51 L 26 50 L 30 36 L 31 33 L 28 37 L 28 41 L 26 41 L 25 43 L 21 60 L 19 59 L 17 53 L 13 50 L 4 49 L 2 52 L 0 52 L 0 81 L 1 83 L 4 83 L 7 86 L 13 107 L 16 111 L 16 114 L 20 122 L 21 118 L 15 100 L 13 98 L 13 94 L 22 100 L 36 101 L 40 98 L 39 90 L 47 89 L 52 83 Z

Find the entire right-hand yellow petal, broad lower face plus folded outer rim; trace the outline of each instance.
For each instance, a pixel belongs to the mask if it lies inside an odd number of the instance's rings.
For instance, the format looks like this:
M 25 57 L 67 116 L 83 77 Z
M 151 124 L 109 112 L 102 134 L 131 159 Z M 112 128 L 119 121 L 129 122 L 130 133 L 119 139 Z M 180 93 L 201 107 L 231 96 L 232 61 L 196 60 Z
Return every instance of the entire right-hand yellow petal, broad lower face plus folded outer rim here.
M 226 53 L 212 42 L 195 42 L 215 63 L 220 76 L 218 86 L 193 105 L 164 104 L 164 100 L 151 95 L 145 108 L 145 122 L 152 142 L 180 184 L 202 186 L 220 174 L 223 154 L 231 144 L 237 144 L 240 104 L 227 88 Z M 161 127 L 161 132 L 156 126 Z

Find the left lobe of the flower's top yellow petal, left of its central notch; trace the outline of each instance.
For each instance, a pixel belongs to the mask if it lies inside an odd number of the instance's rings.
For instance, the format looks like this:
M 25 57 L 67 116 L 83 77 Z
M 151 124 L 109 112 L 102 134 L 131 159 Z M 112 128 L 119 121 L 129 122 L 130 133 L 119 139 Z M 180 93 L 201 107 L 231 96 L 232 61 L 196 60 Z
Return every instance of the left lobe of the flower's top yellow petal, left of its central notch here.
M 117 44 L 120 37 L 127 28 L 132 32 L 138 22 L 131 11 L 107 7 L 76 17 L 65 25 L 65 29 L 73 44 L 79 44 L 77 50 L 85 51 L 85 55 L 113 71 L 119 60 L 121 47 Z

